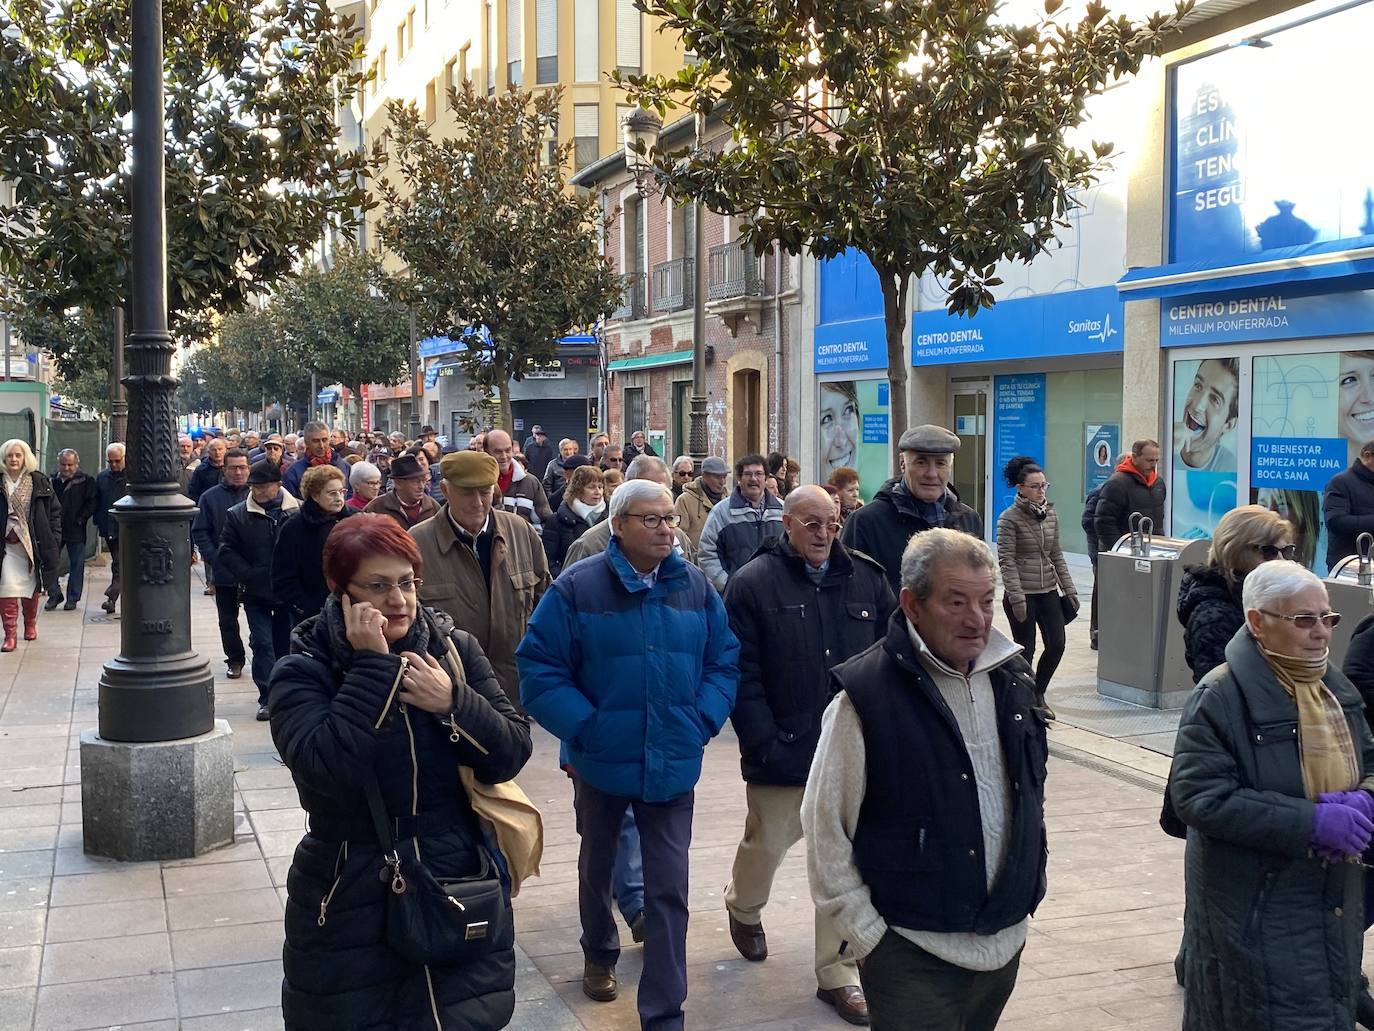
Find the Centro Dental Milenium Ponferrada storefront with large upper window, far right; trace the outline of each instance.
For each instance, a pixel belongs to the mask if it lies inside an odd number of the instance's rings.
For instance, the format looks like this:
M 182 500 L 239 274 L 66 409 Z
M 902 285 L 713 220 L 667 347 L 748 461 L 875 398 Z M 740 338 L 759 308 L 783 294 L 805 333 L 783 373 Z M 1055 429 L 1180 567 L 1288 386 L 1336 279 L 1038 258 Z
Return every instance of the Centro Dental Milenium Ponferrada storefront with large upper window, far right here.
M 1322 491 L 1374 440 L 1371 32 L 1359 4 L 1175 63 L 1167 261 L 1118 283 L 1158 301 L 1173 535 L 1264 505 L 1318 572 Z

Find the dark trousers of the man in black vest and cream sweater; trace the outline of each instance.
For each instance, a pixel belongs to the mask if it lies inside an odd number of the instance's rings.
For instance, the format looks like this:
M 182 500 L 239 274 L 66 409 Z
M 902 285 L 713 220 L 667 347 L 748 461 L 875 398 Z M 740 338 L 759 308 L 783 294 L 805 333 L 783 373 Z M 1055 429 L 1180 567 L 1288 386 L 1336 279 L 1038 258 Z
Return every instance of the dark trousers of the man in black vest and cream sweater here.
M 992 1031 L 1017 986 L 1021 953 L 999 971 L 966 971 L 888 931 L 859 962 L 872 1031 Z

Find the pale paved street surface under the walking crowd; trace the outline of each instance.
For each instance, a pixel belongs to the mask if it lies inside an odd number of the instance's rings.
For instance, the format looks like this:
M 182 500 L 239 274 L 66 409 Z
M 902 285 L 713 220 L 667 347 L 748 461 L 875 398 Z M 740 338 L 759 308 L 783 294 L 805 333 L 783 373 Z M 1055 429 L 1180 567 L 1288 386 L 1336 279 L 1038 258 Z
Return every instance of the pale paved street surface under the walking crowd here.
M 118 620 L 96 605 L 106 573 L 89 573 L 80 610 L 43 613 L 40 641 L 0 656 L 0 1030 L 280 1028 L 283 884 L 304 815 L 267 726 L 253 720 L 251 682 L 223 679 L 214 606 L 199 584 L 194 642 L 212 660 L 218 715 L 234 727 L 235 843 L 166 863 L 114 863 L 81 851 L 77 742 L 96 720 L 102 663 L 118 649 Z M 1165 760 L 1072 729 L 1054 731 L 1052 751 L 1050 894 L 1003 1026 L 1176 1028 L 1182 845 L 1156 825 Z M 515 903 L 519 1004 L 511 1027 L 629 1031 L 638 1027 L 639 950 L 628 932 L 621 998 L 595 1004 L 580 991 L 572 792 L 543 731 L 521 782 L 544 810 L 548 844 L 543 876 Z M 769 960 L 746 964 L 730 943 L 721 892 L 743 812 L 727 730 L 708 749 L 697 795 L 687 1024 L 846 1027 L 813 998 L 802 847 L 779 872 L 764 913 Z

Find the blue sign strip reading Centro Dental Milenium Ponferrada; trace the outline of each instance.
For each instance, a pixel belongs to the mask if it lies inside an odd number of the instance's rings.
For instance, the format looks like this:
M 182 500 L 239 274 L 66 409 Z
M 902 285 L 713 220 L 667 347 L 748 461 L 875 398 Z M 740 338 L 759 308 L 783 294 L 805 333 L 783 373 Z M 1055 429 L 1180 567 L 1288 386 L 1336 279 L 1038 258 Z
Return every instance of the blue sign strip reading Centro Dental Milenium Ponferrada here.
M 1160 302 L 1160 345 L 1249 344 L 1374 333 L 1374 290 L 1303 296 L 1257 289 Z

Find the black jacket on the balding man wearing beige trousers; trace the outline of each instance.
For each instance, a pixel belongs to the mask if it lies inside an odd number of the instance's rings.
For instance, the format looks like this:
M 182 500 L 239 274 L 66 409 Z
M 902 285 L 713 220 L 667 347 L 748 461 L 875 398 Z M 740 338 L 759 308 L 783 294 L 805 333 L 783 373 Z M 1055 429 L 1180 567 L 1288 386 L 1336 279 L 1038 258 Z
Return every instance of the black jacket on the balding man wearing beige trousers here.
M 818 586 L 786 537 L 765 540 L 725 587 L 739 638 L 730 722 L 749 784 L 807 782 L 830 704 L 830 669 L 888 632 L 897 606 L 882 566 L 838 540 Z

